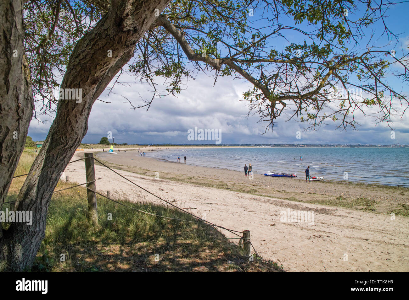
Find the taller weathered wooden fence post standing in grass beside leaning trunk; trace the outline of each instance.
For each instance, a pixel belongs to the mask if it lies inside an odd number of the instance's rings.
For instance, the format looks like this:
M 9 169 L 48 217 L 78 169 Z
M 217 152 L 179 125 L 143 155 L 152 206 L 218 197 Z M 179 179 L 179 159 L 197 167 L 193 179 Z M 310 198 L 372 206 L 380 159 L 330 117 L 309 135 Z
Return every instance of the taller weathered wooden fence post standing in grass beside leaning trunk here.
M 95 188 L 95 169 L 94 169 L 94 154 L 84 153 L 85 156 L 85 176 L 87 178 L 87 187 L 96 191 Z M 98 210 L 97 210 L 97 195 L 87 189 L 88 196 L 88 220 L 92 220 L 92 225 L 98 225 Z

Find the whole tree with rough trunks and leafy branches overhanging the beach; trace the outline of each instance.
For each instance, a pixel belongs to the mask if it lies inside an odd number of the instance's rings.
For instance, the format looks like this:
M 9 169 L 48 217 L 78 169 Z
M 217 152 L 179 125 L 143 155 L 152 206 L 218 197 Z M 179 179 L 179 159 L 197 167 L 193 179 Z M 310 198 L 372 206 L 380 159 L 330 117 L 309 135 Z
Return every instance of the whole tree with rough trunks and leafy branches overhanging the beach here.
M 346 129 L 357 125 L 357 113 L 389 124 L 408 107 L 399 85 L 409 78 L 407 49 L 385 17 L 391 1 L 10 0 L 1 5 L 7 34 L 0 46 L 5 74 L 0 205 L 24 147 L 33 102 L 35 118 L 55 112 L 14 207 L 33 211 L 33 224 L 0 229 L 3 270 L 33 263 L 52 192 L 85 136 L 92 104 L 123 72 L 154 89 L 144 105 L 130 100 L 134 109 L 148 109 L 157 95 L 177 96 L 197 71 L 214 72 L 215 85 L 218 76 L 245 79 L 253 88 L 243 100 L 266 129 L 279 117 L 295 118 L 306 128 L 330 121 Z M 157 77 L 164 78 L 163 87 Z M 58 87 L 81 89 L 81 101 L 54 98 L 50 91 Z M 351 93 L 357 89 L 360 93 Z

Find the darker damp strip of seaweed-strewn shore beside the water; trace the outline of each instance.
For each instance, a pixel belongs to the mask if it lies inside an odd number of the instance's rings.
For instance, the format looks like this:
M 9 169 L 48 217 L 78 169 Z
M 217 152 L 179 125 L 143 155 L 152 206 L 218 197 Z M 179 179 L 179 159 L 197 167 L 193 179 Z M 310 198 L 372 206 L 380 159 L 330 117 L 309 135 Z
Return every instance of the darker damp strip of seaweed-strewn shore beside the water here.
M 236 170 L 141 157 L 135 155 L 135 152 L 119 152 L 116 155 L 104 155 L 100 152 L 97 156 L 110 167 L 152 177 L 158 172 L 160 178 L 175 182 L 297 202 L 409 216 L 408 187 L 339 180 L 305 182 L 301 178 L 271 178 L 258 173 L 254 173 L 254 179 L 249 180 L 243 172 Z

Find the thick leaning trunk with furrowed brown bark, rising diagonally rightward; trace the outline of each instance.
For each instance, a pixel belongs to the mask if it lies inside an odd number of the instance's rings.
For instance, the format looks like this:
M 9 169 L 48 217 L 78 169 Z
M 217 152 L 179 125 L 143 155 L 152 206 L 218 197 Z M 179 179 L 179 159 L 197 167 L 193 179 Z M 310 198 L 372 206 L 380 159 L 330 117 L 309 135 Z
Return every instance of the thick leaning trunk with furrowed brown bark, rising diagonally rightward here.
M 61 89 L 81 89 L 82 99 L 58 101 L 56 118 L 16 202 L 16 210 L 33 211 L 33 223 L 13 223 L 4 234 L 4 269 L 22 271 L 31 267 L 45 236 L 52 192 L 87 132 L 92 104 L 132 58 L 135 44 L 157 18 L 155 9 L 162 12 L 168 2 L 112 0 L 108 13 L 76 44 Z

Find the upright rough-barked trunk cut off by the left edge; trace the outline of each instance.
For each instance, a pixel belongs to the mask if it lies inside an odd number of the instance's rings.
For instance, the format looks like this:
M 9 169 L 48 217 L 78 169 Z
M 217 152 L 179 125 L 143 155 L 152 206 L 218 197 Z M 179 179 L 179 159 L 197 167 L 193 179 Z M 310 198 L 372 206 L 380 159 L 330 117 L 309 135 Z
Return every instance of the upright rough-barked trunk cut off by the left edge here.
M 24 56 L 22 0 L 0 1 L 0 210 L 24 149 L 33 116 L 30 71 Z M 3 230 L 0 221 L 0 244 Z M 0 270 L 2 247 L 0 247 Z

